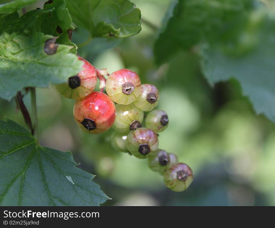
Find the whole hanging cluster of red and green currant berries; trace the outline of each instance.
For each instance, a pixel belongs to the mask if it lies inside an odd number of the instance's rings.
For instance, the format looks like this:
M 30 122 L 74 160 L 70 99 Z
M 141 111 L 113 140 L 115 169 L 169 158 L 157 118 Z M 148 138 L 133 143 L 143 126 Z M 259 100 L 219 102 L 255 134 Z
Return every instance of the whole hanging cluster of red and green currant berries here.
M 81 57 L 83 68 L 68 83 L 57 85 L 65 97 L 77 100 L 73 115 L 85 132 L 98 134 L 115 129 L 112 146 L 131 155 L 148 158 L 151 170 L 164 176 L 165 185 L 173 191 L 184 191 L 193 180 L 189 166 L 179 163 L 173 153 L 159 149 L 158 133 L 168 127 L 168 115 L 163 110 L 153 110 L 159 102 L 158 89 L 149 84 L 141 85 L 138 75 L 128 69 L 108 74 L 98 70 Z M 107 80 L 103 75 L 107 75 Z M 93 92 L 97 78 L 100 92 Z M 107 94 L 103 93 L 104 87 Z M 114 105 L 114 102 L 116 105 Z M 153 111 L 152 111 L 153 110 Z M 149 112 L 142 126 L 144 112 Z

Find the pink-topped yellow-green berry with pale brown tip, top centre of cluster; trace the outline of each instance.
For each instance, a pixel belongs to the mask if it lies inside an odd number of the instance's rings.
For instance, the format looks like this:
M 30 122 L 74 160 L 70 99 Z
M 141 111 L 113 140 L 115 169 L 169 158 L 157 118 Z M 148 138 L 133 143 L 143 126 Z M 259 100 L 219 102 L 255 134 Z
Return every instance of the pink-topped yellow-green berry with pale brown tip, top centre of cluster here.
M 128 69 L 113 72 L 106 81 L 106 92 L 116 103 L 131 104 L 140 94 L 141 82 L 138 75 Z

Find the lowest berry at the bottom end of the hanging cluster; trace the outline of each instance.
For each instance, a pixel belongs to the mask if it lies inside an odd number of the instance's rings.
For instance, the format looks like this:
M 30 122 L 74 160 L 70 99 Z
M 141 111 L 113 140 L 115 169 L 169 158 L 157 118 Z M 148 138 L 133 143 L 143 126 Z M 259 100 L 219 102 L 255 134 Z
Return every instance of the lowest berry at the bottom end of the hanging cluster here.
M 164 175 L 164 184 L 172 191 L 184 191 L 193 181 L 192 169 L 184 163 L 169 167 Z

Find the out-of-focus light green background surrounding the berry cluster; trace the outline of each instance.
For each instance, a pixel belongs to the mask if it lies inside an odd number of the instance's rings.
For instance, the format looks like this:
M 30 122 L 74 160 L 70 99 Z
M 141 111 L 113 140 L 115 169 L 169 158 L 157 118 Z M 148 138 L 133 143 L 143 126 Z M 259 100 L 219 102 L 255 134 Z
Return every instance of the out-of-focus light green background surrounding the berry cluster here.
M 142 18 L 159 27 L 170 1 L 134 2 Z M 143 23 L 136 36 L 95 38 L 86 46 L 82 43 L 88 32 L 76 28 L 72 41 L 95 67 L 107 67 L 109 73 L 128 68 L 142 83 L 158 87 L 158 109 L 169 116 L 159 147 L 192 168 L 195 178 L 187 191 L 168 190 L 147 160 L 114 151 L 109 142 L 113 129 L 100 135 L 83 133 L 73 119 L 74 101 L 61 97 L 54 86 L 37 89 L 40 144 L 71 151 L 80 168 L 97 175 L 94 181 L 112 198 L 103 205 L 275 205 L 274 124 L 255 114 L 237 81 L 210 87 L 195 53 L 180 52 L 157 67 L 152 49 L 156 36 L 157 31 Z M 24 102 L 30 109 L 28 94 Z M 0 110 L 0 119 L 26 126 L 14 99 L 0 100 Z

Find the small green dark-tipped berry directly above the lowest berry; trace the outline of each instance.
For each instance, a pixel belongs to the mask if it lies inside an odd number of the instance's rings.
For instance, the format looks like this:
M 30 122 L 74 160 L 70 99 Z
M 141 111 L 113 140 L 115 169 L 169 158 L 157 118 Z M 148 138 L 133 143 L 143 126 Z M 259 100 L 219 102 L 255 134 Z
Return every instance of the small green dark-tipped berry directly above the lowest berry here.
M 169 154 L 161 149 L 154 152 L 153 156 L 150 156 L 148 159 L 148 166 L 154 172 L 166 171 L 169 163 Z

